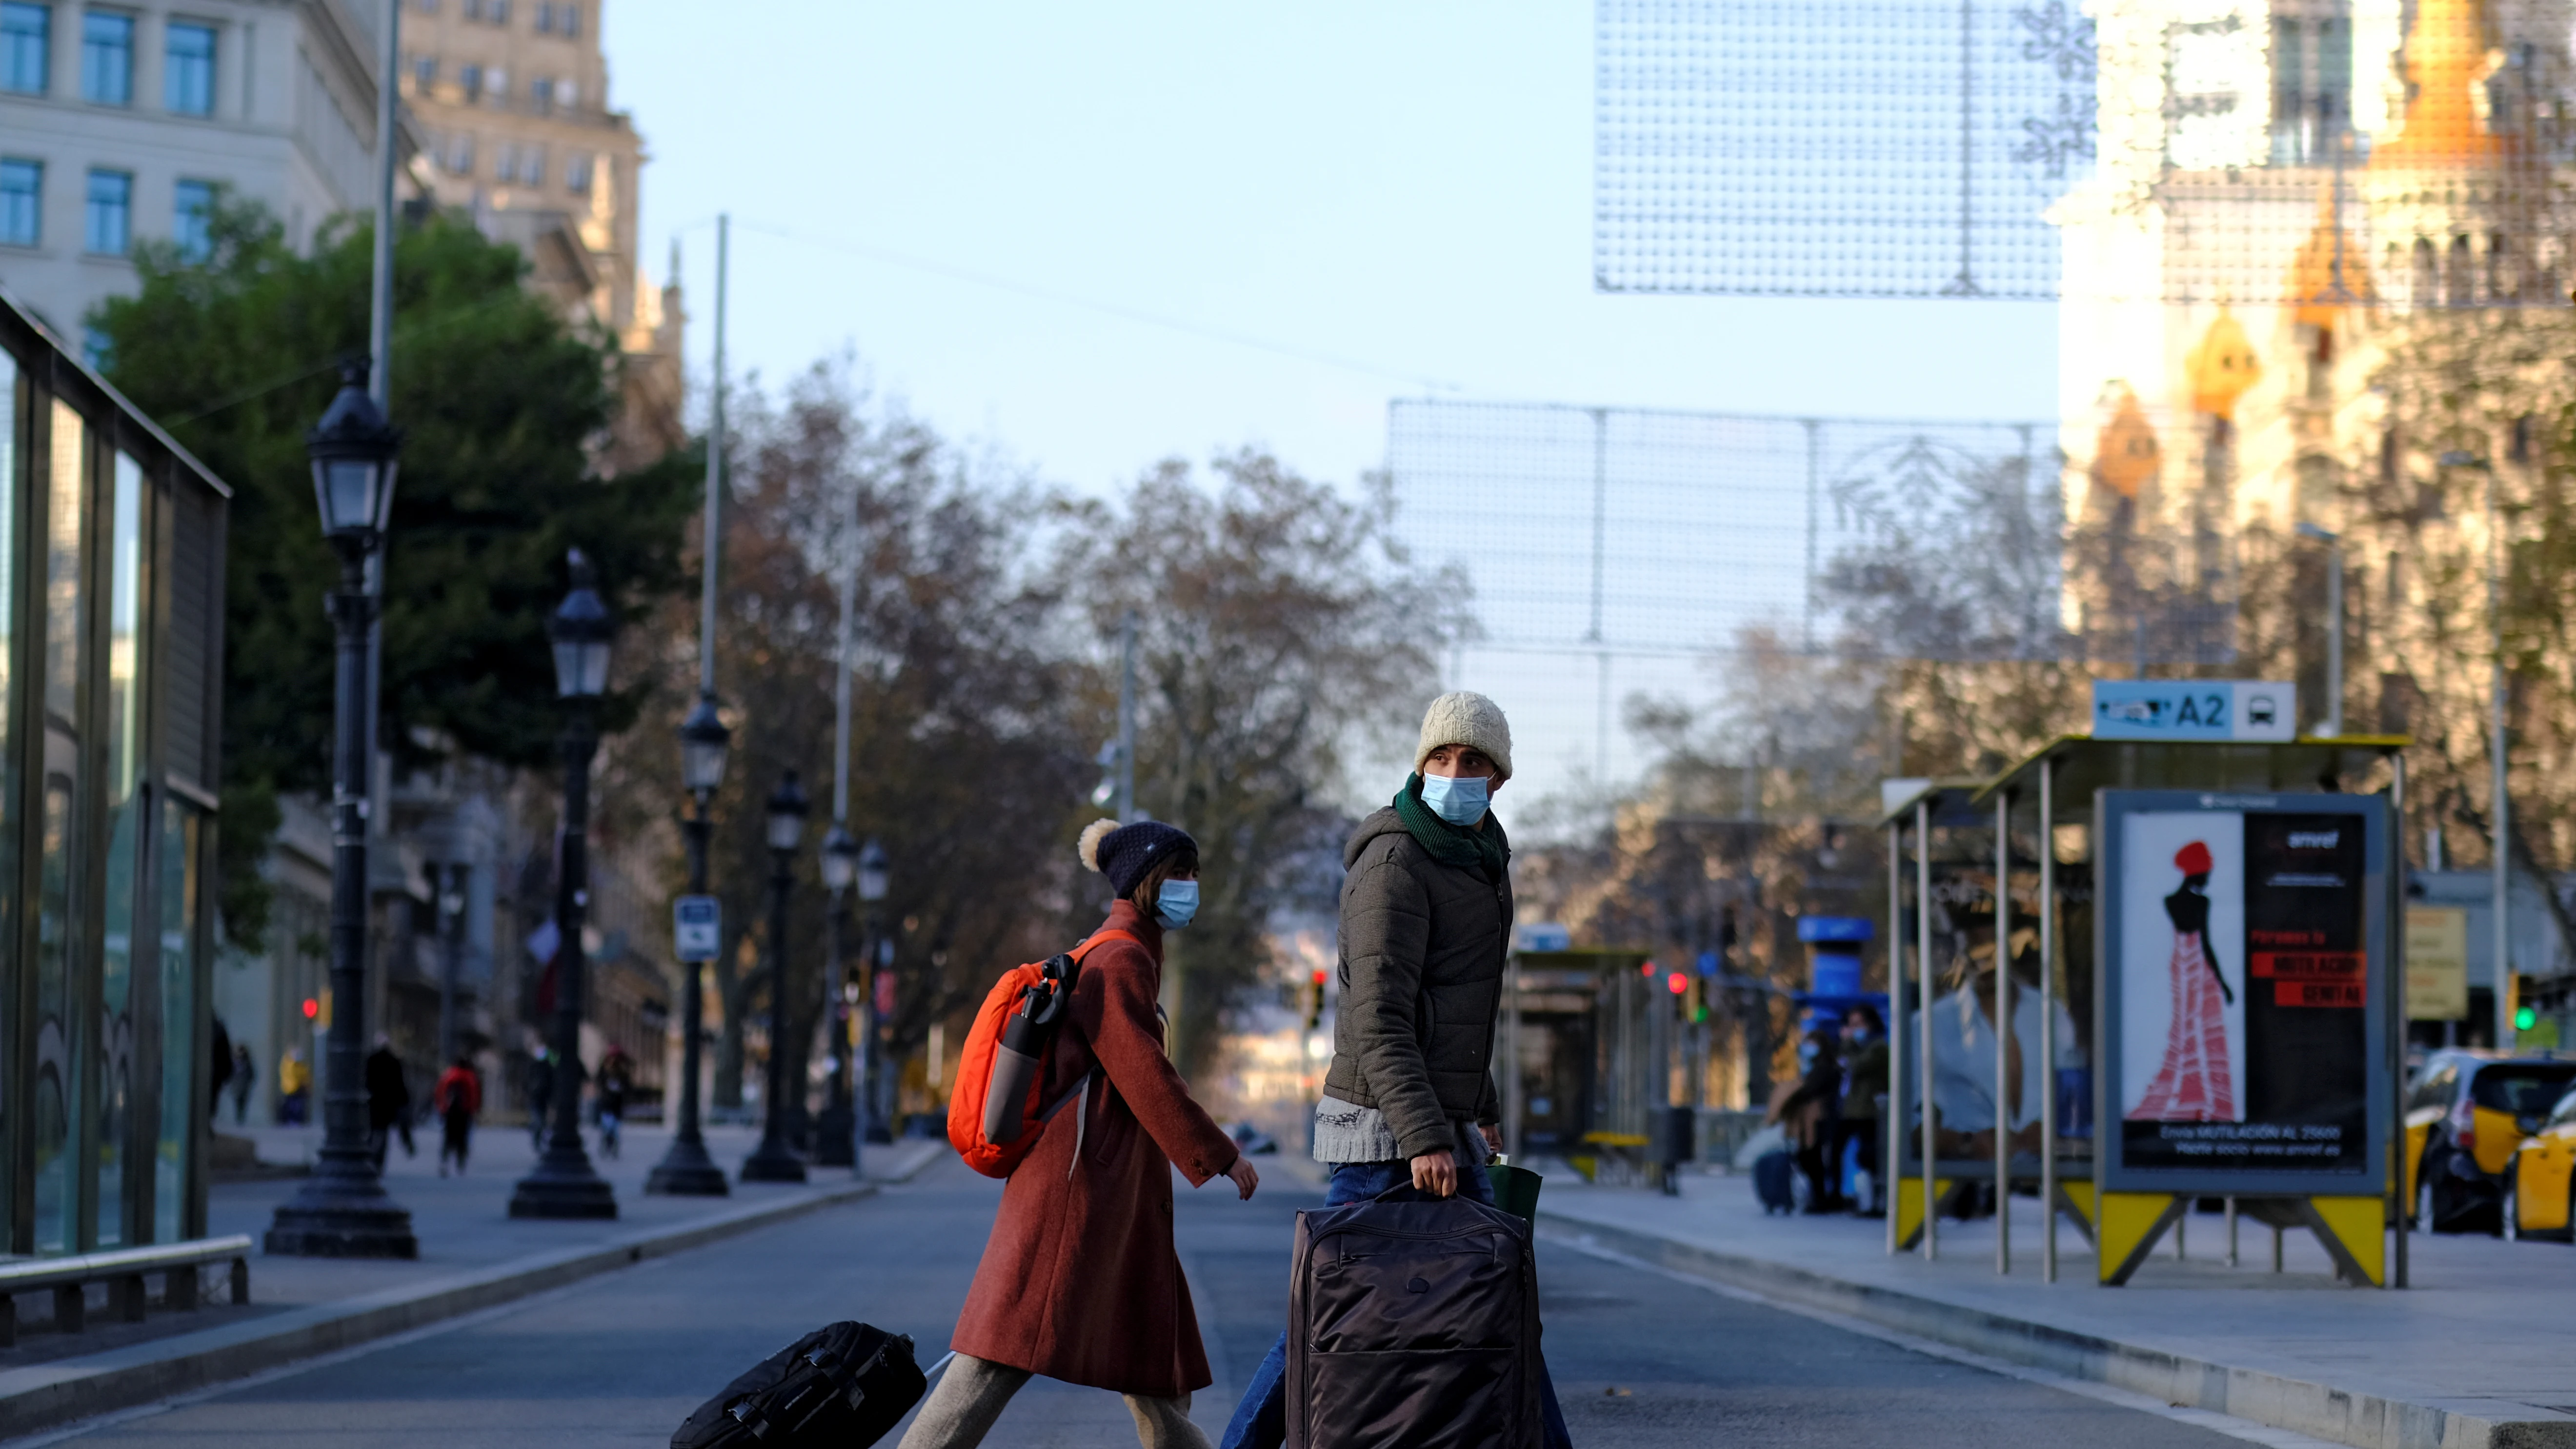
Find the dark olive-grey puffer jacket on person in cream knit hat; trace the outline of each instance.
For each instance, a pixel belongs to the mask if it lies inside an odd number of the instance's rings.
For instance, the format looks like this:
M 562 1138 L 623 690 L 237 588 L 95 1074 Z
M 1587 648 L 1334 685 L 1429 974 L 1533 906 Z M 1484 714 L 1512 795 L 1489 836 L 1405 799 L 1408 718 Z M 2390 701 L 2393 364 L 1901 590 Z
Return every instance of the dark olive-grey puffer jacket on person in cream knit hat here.
M 1494 1024 L 1512 882 L 1435 861 L 1378 810 L 1342 846 L 1342 1006 L 1324 1096 L 1373 1106 L 1406 1158 L 1497 1122 Z

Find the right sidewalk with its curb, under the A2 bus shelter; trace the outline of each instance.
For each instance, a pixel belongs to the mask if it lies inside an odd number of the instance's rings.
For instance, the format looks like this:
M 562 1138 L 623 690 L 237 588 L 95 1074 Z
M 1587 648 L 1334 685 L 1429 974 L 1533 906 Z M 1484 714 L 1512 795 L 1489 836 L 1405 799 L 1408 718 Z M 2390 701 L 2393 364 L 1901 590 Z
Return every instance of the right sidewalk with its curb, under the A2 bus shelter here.
M 2040 1209 L 2012 1199 L 2012 1274 L 1996 1225 L 1942 1222 L 1940 1261 L 1886 1256 L 1886 1222 L 1765 1217 L 1747 1176 L 1685 1176 L 1682 1196 L 1597 1189 L 1548 1171 L 1540 1232 L 1917 1338 L 2251 1418 L 2360 1449 L 2576 1446 L 2576 1250 L 2411 1238 L 2414 1287 L 2334 1281 L 2306 1232 L 2192 1214 L 2128 1287 L 2094 1284 L 2084 1235 L 2058 1227 L 2040 1281 Z

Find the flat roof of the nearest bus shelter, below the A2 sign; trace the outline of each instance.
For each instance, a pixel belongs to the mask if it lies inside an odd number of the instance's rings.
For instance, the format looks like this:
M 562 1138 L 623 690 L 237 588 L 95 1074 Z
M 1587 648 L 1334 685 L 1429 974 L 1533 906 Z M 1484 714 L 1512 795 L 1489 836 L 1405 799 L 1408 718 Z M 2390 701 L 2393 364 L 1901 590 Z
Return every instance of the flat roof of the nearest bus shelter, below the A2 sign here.
M 1984 781 L 1976 804 L 1991 810 L 1996 792 L 2035 794 L 2043 768 L 2056 768 L 2061 820 L 2089 807 L 2099 789 L 2336 792 L 2406 745 L 2414 745 L 2406 735 L 2300 735 L 2280 743 L 2058 735 L 2027 761 Z

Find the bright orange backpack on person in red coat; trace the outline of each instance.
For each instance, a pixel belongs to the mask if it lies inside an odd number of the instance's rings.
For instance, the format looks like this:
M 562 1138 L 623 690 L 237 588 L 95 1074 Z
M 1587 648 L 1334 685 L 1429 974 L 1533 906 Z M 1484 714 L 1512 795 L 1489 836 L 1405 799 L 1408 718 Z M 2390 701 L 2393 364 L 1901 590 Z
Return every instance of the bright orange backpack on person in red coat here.
M 1046 1049 L 1074 1006 L 1082 957 L 1100 941 L 1128 941 L 1126 931 L 1097 931 L 1072 951 L 1012 967 L 984 995 L 958 1057 L 958 1088 L 948 1098 L 948 1145 L 987 1178 L 1007 1178 L 1038 1147 L 1038 1129 L 1061 1101 L 1046 1091 Z

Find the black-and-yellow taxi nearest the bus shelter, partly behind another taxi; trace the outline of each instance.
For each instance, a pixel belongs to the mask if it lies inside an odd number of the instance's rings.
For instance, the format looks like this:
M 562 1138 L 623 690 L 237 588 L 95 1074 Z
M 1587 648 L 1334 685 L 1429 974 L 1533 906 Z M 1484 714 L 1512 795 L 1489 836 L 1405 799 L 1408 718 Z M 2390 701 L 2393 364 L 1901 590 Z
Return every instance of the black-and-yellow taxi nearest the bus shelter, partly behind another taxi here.
M 2522 1142 L 2576 1088 L 2576 1060 L 2434 1052 L 2406 1093 L 2416 1232 L 2496 1232 Z

